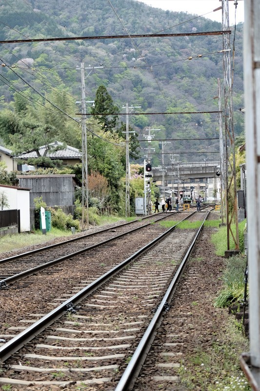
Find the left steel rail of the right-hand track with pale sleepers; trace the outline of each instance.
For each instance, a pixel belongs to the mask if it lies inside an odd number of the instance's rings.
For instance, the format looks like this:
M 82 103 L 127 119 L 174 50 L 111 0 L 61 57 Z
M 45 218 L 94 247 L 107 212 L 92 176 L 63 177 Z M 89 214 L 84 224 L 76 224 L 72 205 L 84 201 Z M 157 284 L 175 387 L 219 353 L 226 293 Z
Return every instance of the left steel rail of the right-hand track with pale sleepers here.
M 195 213 L 195 212 L 194 212 Z M 102 284 L 107 282 L 109 279 L 114 277 L 117 273 L 121 271 L 128 263 L 139 257 L 142 253 L 153 247 L 156 243 L 158 243 L 161 239 L 165 238 L 165 235 L 169 235 L 176 227 L 181 223 L 181 221 L 186 220 L 189 216 L 186 216 L 182 220 L 180 220 L 173 227 L 169 228 L 166 232 L 162 233 L 158 238 L 153 239 L 150 243 L 146 244 L 144 247 L 139 249 L 136 253 L 131 255 L 126 260 L 122 261 L 117 266 L 113 267 L 111 270 L 100 276 L 97 280 L 91 282 L 85 288 L 81 289 L 74 296 L 60 304 L 54 310 L 49 312 L 47 315 L 43 316 L 39 321 L 35 322 L 33 325 L 29 326 L 25 330 L 21 331 L 17 336 L 12 338 L 10 341 L 6 342 L 3 346 L 0 347 L 0 363 L 3 363 L 12 354 L 17 352 L 20 348 L 22 348 L 25 344 L 30 342 L 33 338 L 35 338 L 41 331 L 45 330 L 46 327 L 50 326 L 59 319 L 66 312 L 69 312 L 77 304 L 80 303 L 83 299 L 97 290 Z

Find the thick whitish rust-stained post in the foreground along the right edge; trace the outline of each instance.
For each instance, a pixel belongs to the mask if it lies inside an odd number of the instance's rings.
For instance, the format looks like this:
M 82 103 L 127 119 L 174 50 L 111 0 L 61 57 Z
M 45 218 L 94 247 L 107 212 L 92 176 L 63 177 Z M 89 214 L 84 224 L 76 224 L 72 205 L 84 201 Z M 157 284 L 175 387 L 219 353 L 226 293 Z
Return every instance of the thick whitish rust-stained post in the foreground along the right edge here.
M 260 1 L 244 3 L 244 91 L 250 353 L 241 366 L 252 390 L 260 390 Z M 249 365 L 251 368 L 249 369 Z

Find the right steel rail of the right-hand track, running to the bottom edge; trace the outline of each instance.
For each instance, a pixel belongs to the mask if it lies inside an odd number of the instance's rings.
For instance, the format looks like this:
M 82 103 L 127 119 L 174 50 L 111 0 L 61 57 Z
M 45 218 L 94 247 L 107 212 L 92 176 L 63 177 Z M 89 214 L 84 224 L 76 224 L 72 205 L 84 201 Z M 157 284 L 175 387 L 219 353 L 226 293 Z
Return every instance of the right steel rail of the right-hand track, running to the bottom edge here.
M 138 347 L 136 348 L 129 364 L 127 365 L 125 371 L 123 372 L 115 391 L 131 390 L 134 387 L 136 378 L 138 377 L 140 370 L 141 370 L 141 364 L 144 362 L 145 357 L 150 350 L 151 343 L 155 338 L 158 327 L 160 326 L 160 324 L 162 322 L 162 318 L 164 315 L 163 313 L 165 312 L 165 304 L 168 304 L 172 298 L 172 295 L 174 293 L 176 285 L 177 285 L 178 281 L 180 280 L 180 277 L 181 277 L 183 270 L 185 268 L 186 262 L 193 251 L 193 248 L 196 244 L 196 241 L 199 238 L 201 231 L 203 229 L 205 220 L 207 219 L 210 212 L 211 211 L 209 211 L 207 213 L 206 217 L 204 218 L 204 220 L 203 220 L 200 228 L 198 229 L 197 234 L 195 235 L 189 249 L 187 250 L 183 260 L 181 261 L 180 266 L 179 266 L 173 280 L 171 281 L 153 319 L 151 320 L 146 331 L 144 332 L 143 337 L 141 338 L 140 343 L 139 343 Z

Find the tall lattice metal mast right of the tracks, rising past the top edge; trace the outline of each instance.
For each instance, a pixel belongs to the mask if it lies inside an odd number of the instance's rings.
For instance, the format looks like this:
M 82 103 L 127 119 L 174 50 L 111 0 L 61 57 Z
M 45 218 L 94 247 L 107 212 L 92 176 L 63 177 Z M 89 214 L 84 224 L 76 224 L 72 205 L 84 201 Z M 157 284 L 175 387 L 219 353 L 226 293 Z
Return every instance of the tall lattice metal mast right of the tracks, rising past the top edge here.
M 222 30 L 229 30 L 228 0 L 222 0 Z M 235 251 L 239 251 L 239 226 L 236 161 L 233 123 L 233 98 L 230 64 L 230 37 L 223 34 L 223 71 L 224 71 L 224 117 L 225 117 L 225 149 L 226 149 L 226 222 L 227 222 L 227 253 L 230 252 L 230 235 L 235 242 Z M 233 207 L 229 212 L 229 206 Z M 231 224 L 235 223 L 233 232 Z

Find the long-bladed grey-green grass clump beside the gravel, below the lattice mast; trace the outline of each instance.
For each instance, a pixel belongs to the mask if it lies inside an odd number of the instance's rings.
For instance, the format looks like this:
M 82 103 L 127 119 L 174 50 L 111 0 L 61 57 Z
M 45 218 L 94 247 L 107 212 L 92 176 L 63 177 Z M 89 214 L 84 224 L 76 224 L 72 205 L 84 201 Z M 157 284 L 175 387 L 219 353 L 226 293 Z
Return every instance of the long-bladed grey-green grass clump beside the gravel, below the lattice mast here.
M 236 255 L 226 260 L 226 269 L 221 278 L 223 288 L 215 300 L 214 305 L 216 307 L 226 307 L 243 301 L 245 267 L 246 257 L 244 255 Z

